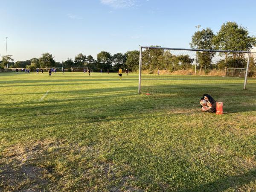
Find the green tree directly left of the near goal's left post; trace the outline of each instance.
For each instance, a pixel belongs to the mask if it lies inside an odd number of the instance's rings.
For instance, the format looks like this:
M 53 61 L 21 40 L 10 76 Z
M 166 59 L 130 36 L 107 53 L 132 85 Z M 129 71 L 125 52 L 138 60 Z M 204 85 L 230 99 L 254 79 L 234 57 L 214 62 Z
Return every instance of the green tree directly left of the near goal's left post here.
M 137 50 L 128 51 L 125 53 L 125 66 L 128 70 L 137 71 L 139 69 L 140 52 Z

